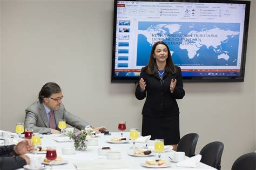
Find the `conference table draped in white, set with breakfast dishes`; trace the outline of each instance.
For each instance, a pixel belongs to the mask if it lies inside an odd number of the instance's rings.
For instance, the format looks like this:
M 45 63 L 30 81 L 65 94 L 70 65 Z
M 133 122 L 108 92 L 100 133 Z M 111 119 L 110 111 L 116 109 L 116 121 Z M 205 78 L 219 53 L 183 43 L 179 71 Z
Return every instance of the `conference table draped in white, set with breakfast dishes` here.
M 102 135 L 100 137 L 95 137 L 94 139 L 98 140 L 98 145 L 96 146 L 87 146 L 86 151 L 75 151 L 75 154 L 63 154 L 62 148 L 73 147 L 73 142 L 57 142 L 53 140 L 54 138 L 59 138 L 59 134 L 50 134 L 42 135 L 42 147 L 54 146 L 56 147 L 57 156 L 61 157 L 63 160 L 68 161 L 66 164 L 62 165 L 53 165 L 52 169 L 159 169 L 159 168 L 149 168 L 143 167 L 141 164 L 145 163 L 146 160 L 156 159 L 157 153 L 154 153 L 151 157 L 134 157 L 128 154 L 132 142 L 126 142 L 123 144 L 112 144 L 109 141 L 111 138 L 120 137 L 120 133 L 112 132 L 111 135 Z M 129 139 L 129 132 L 124 132 L 124 138 Z M 153 141 L 147 142 L 149 146 L 153 146 Z M 136 143 L 135 146 L 138 148 L 145 147 L 144 143 Z M 118 160 L 107 159 L 106 156 L 98 155 L 98 148 L 110 147 L 112 151 L 119 151 L 121 157 Z M 176 163 L 171 162 L 168 158 L 172 152 L 163 152 L 161 153 L 161 159 L 167 160 L 170 162 L 170 167 L 165 167 L 164 169 L 190 169 L 190 170 L 201 170 L 201 169 L 215 169 L 211 166 L 205 165 L 199 162 L 199 165 L 196 168 L 191 167 L 177 167 Z M 32 153 L 29 153 L 28 156 L 32 156 Z M 45 158 L 45 154 L 38 154 L 42 159 Z M 83 165 L 83 168 L 77 167 L 76 165 Z M 86 165 L 90 165 L 86 167 Z M 93 166 L 95 165 L 95 166 Z M 115 165 L 118 165 L 117 168 Z M 120 166 L 122 165 L 122 166 Z M 21 168 L 23 169 L 23 168 Z M 50 166 L 46 166 L 46 169 L 50 169 Z M 162 168 L 160 168 L 162 169 Z

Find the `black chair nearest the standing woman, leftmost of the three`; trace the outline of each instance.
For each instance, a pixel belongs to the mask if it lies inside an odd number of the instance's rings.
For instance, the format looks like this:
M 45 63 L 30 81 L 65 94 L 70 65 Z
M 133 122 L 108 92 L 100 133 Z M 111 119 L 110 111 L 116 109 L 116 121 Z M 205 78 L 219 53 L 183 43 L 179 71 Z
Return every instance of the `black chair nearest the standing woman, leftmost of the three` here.
M 188 133 L 184 137 L 182 137 L 178 143 L 177 151 L 185 152 L 187 157 L 193 157 L 194 151 L 196 150 L 197 141 L 198 141 L 197 133 Z

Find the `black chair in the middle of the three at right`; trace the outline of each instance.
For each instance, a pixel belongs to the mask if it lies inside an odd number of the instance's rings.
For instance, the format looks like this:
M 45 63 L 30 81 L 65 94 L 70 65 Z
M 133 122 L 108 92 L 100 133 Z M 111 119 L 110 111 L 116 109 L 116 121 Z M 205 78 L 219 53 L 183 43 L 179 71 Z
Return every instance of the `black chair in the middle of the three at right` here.
M 212 166 L 220 170 L 220 160 L 223 153 L 224 144 L 223 142 L 214 141 L 210 144 L 205 145 L 201 151 L 202 155 L 201 161 L 206 165 Z

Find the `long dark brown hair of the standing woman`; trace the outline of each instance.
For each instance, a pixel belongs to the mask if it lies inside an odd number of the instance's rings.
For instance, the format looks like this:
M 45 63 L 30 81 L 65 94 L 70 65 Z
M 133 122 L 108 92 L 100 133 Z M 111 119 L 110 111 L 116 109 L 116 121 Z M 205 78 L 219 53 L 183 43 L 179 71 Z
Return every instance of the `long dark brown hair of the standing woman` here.
M 165 45 L 168 50 L 168 58 L 166 59 L 165 72 L 175 74 L 177 70 L 175 65 L 172 62 L 170 49 L 168 45 L 166 45 L 164 42 L 154 43 L 154 45 L 152 46 L 149 63 L 144 67 L 144 70 L 146 71 L 147 74 L 151 74 L 151 75 L 158 72 L 156 59 L 154 58 L 154 50 L 156 50 L 156 47 L 159 44 Z

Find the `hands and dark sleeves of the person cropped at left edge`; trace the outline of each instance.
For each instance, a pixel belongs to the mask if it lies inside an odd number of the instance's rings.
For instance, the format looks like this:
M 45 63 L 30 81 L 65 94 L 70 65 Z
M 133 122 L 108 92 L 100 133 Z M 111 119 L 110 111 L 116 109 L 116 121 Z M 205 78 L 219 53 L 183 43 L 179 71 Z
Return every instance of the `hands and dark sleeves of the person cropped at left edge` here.
M 0 169 L 17 169 L 23 168 L 29 164 L 29 157 L 25 153 L 33 151 L 33 142 L 29 139 L 24 139 L 18 144 L 9 146 L 0 146 Z

